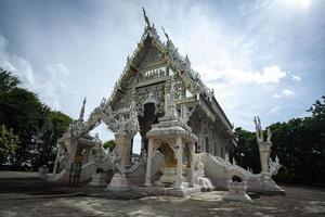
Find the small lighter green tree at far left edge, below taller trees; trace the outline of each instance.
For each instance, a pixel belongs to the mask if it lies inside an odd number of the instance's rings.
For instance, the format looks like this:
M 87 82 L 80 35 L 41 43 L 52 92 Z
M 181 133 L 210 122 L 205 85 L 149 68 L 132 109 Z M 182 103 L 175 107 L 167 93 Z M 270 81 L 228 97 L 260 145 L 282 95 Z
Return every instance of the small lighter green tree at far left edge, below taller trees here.
M 20 143 L 20 139 L 13 133 L 13 129 L 8 130 L 4 125 L 0 127 L 0 163 L 11 157 Z

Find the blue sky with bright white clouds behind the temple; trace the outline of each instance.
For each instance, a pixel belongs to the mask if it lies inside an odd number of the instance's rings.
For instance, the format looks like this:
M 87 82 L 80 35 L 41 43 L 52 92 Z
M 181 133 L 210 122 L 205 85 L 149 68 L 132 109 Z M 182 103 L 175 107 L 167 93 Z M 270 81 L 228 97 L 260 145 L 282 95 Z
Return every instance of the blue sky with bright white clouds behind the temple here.
M 87 97 L 88 116 L 140 41 L 142 7 L 235 127 L 253 130 L 255 115 L 263 127 L 308 116 L 325 94 L 323 0 L 1 0 L 0 66 L 73 118 Z M 113 138 L 104 125 L 94 131 Z

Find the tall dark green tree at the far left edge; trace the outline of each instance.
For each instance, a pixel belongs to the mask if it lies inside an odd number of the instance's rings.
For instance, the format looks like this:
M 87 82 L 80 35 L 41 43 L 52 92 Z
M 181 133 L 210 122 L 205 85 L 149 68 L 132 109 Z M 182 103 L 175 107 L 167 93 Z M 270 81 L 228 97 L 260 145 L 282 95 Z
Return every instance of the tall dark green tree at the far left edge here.
M 43 124 L 49 111 L 35 93 L 20 88 L 20 84 L 17 77 L 0 68 L 0 124 L 12 128 L 20 137 L 21 142 L 14 155 L 17 166 L 31 158 L 36 146 L 36 129 Z

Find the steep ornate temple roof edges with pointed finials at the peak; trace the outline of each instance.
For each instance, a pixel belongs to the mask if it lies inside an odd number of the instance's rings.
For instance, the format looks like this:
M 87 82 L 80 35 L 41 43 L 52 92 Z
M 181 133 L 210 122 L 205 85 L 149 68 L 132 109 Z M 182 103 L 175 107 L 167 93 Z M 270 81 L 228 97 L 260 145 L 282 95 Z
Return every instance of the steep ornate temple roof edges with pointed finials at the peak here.
M 143 10 L 144 11 L 144 10 Z M 113 103 L 117 100 L 118 92 L 123 92 L 123 84 L 127 82 L 127 79 L 134 75 L 134 72 L 138 71 L 136 63 L 138 59 L 141 56 L 141 52 L 145 47 L 145 41 L 147 39 L 152 40 L 152 44 L 157 48 L 162 54 L 165 60 L 167 61 L 168 65 L 178 74 L 181 80 L 185 84 L 186 88 L 192 94 L 198 94 L 203 99 L 207 101 L 211 110 L 219 116 L 222 123 L 225 125 L 227 129 L 232 129 L 232 125 L 229 122 L 226 115 L 224 114 L 223 110 L 219 105 L 218 101 L 214 98 L 213 90 L 209 89 L 204 81 L 202 80 L 199 74 L 191 67 L 191 62 L 188 56 L 182 56 L 176 46 L 173 44 L 172 40 L 166 34 L 165 29 L 164 34 L 167 38 L 167 41 L 164 42 L 160 40 L 155 25 L 152 24 L 146 16 L 144 11 L 144 20 L 145 20 L 145 27 L 140 39 L 140 42 L 136 46 L 136 49 L 133 51 L 131 56 L 127 58 L 127 64 L 119 77 L 116 81 L 113 92 L 108 99 L 109 103 Z

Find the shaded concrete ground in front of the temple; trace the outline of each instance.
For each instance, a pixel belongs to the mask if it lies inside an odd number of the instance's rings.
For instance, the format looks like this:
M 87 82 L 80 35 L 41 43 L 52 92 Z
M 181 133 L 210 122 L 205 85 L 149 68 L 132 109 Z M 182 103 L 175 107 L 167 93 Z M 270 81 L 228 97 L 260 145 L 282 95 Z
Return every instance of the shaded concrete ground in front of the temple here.
M 284 187 L 286 195 L 225 202 L 225 192 L 191 197 L 109 194 L 83 184 L 46 182 L 31 173 L 0 171 L 0 216 L 325 216 L 325 190 Z

